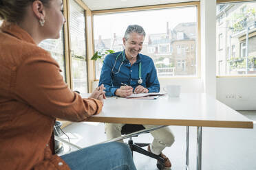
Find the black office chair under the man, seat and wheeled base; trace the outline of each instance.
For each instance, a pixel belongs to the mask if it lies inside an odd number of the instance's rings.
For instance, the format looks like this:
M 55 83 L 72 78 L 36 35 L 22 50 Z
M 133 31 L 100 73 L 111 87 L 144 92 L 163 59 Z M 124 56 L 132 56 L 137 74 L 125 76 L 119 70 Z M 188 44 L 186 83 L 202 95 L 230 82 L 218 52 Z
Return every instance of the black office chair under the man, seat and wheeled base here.
M 124 126 L 122 126 L 121 134 L 122 135 L 131 134 L 131 133 L 137 132 L 139 130 L 145 130 L 145 127 L 143 125 L 125 124 Z M 133 151 L 136 151 L 140 154 L 154 158 L 154 159 L 158 160 L 158 162 L 156 163 L 156 166 L 158 167 L 158 169 L 164 169 L 164 158 L 162 158 L 161 156 L 152 154 L 151 152 L 141 148 L 141 147 L 148 146 L 149 143 L 134 143 L 134 141 L 132 141 L 132 139 L 130 137 L 129 141 L 128 141 L 128 145 L 131 149 L 132 156 L 133 156 Z

